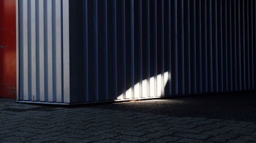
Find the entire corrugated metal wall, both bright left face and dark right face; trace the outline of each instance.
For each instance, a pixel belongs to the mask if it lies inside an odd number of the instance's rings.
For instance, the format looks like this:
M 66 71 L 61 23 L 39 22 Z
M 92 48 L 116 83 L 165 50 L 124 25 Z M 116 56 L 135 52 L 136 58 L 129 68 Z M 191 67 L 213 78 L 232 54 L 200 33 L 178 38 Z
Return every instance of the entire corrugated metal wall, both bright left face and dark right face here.
M 20 0 L 19 9 L 20 100 L 255 89 L 254 0 Z

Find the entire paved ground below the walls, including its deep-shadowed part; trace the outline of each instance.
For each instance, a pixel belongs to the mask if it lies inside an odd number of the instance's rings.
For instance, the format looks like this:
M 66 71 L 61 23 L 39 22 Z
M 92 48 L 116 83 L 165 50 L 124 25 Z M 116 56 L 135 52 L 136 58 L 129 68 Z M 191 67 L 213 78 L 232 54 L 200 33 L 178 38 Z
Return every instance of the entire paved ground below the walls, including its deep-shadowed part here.
M 256 142 L 256 94 L 83 107 L 0 99 L 0 142 Z

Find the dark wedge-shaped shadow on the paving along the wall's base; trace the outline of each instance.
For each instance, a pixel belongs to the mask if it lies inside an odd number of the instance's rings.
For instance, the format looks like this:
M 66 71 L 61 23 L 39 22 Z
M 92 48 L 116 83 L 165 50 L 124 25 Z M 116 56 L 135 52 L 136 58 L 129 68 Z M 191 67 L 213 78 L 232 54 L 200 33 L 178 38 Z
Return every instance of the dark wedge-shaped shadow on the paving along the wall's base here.
M 256 92 L 188 96 L 173 99 L 93 105 L 90 107 L 156 113 L 176 117 L 256 122 Z

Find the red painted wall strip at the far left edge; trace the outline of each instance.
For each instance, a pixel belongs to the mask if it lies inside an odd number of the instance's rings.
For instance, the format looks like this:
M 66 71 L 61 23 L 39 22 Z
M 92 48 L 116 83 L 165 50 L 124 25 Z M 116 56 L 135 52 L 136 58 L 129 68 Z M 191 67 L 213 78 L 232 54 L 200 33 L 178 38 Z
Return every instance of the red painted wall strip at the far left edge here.
M 0 98 L 16 98 L 15 0 L 0 0 Z

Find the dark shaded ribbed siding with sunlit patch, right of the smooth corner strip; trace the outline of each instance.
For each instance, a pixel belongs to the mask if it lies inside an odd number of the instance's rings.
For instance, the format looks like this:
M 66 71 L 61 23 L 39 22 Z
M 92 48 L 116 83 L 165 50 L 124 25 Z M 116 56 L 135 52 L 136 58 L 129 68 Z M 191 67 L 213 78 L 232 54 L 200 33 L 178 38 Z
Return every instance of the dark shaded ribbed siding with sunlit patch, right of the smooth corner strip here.
M 84 1 L 86 101 L 254 90 L 253 0 Z

